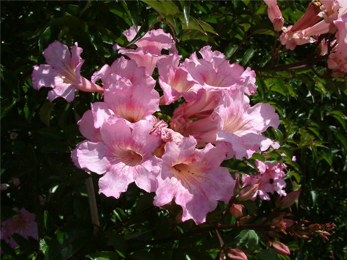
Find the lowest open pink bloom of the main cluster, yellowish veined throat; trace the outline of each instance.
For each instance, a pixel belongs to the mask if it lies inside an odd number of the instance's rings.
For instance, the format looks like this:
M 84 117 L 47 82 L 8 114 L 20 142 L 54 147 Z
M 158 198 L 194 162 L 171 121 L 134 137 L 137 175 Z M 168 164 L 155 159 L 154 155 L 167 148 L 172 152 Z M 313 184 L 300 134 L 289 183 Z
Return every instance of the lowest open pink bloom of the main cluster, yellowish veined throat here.
M 182 221 L 206 221 L 206 215 L 217 206 L 217 200 L 228 203 L 235 181 L 220 163 L 226 158 L 220 147 L 207 144 L 195 149 L 196 140 L 183 138 L 181 145 L 168 142 L 162 156 L 162 171 L 158 176 L 155 206 L 174 199 L 183 208 Z

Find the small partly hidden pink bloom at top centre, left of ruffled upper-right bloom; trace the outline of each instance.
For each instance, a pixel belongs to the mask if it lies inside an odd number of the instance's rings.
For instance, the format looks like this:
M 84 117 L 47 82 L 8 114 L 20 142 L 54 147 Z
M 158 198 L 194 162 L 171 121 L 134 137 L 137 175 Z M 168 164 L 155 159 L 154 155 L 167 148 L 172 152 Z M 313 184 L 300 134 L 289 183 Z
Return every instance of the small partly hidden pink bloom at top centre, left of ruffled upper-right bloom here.
M 194 81 L 187 80 L 187 71 L 184 64 L 179 64 L 180 56 L 177 53 L 165 56 L 158 60 L 159 84 L 164 91 L 165 104 L 184 97 L 186 102 L 196 100 L 199 86 Z

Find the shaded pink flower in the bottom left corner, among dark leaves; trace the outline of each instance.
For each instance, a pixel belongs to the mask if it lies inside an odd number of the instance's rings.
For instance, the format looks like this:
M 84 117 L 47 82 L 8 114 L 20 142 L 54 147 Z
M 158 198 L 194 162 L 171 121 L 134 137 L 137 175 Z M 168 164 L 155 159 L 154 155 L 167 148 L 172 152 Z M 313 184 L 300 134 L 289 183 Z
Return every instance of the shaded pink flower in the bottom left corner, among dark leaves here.
M 18 211 L 16 208 L 14 210 Z M 25 208 L 21 208 L 19 212 L 20 215 L 1 222 L 1 239 L 11 248 L 18 247 L 18 244 L 11 237 L 12 234 L 18 234 L 25 239 L 28 239 L 28 237 L 39 239 L 35 214 L 30 213 Z

